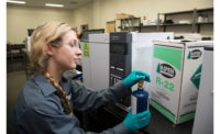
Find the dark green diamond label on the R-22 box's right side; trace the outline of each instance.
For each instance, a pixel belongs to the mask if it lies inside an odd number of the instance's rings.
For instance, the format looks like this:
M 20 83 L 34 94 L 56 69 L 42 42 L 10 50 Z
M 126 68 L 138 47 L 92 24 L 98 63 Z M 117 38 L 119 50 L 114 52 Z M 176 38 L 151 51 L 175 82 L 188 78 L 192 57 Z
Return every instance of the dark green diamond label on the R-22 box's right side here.
M 201 78 L 201 67 L 202 65 L 200 65 L 197 70 L 194 72 L 194 75 L 191 76 L 190 80 L 191 82 L 196 86 L 196 88 L 199 90 L 199 85 L 200 85 L 200 78 Z

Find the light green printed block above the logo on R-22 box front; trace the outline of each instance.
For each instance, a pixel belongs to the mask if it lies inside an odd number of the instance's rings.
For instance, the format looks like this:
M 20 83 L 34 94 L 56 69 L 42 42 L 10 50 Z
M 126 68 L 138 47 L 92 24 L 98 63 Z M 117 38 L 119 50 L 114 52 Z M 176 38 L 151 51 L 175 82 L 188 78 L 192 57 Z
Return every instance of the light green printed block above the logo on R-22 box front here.
M 178 70 L 182 69 L 183 49 L 155 45 L 154 57 L 170 64 Z

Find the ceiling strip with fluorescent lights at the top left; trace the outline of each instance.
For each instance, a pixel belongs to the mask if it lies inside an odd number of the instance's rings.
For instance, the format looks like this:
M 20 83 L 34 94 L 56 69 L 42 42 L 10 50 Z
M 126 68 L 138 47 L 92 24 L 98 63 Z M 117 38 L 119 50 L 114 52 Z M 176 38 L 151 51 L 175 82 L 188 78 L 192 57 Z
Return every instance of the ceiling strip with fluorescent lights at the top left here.
M 8 0 L 7 0 L 8 1 Z M 21 7 L 38 7 L 38 8 L 52 8 L 45 7 L 45 3 L 56 3 L 64 4 L 61 9 L 74 9 L 81 4 L 85 4 L 91 0 L 16 0 L 16 1 L 25 1 L 25 4 L 15 4 L 15 3 L 7 3 L 7 5 L 21 5 Z

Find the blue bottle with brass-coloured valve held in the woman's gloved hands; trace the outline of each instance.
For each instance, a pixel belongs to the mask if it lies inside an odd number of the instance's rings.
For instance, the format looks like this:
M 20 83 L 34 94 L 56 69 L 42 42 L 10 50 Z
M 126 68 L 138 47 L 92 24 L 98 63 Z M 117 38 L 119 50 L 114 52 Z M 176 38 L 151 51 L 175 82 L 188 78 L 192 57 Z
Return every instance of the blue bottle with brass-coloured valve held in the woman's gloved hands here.
M 148 108 L 148 92 L 143 88 L 144 80 L 139 81 L 138 90 L 132 92 L 131 96 L 131 107 L 132 114 L 141 113 Z

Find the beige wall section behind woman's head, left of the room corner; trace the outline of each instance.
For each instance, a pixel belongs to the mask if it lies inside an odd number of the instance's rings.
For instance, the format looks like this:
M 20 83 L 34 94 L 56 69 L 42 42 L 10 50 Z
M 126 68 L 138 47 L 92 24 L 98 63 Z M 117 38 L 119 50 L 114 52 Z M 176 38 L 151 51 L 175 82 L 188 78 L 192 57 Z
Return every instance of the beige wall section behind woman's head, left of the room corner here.
M 70 10 L 7 7 L 7 43 L 20 44 L 28 36 L 28 29 L 35 29 L 47 21 L 70 23 Z

